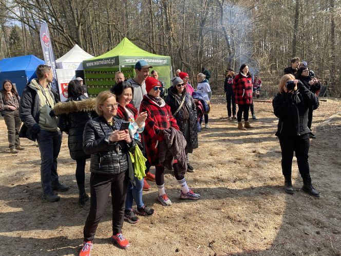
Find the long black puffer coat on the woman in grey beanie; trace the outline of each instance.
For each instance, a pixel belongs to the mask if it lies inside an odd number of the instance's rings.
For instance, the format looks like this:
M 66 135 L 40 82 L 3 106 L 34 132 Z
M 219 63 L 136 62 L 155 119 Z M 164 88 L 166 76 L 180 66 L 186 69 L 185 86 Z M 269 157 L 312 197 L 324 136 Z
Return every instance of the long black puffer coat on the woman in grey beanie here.
M 197 130 L 197 108 L 195 105 L 195 102 L 191 95 L 186 93 L 186 90 L 184 89 L 182 92 L 182 96 L 177 96 L 177 89 L 172 86 L 168 90 L 168 95 L 165 98 L 165 102 L 171 107 L 172 114 L 177 111 L 178 107 L 181 104 L 181 101 L 185 97 L 185 102 L 183 103 L 180 111 L 174 116 L 177 120 L 177 124 L 179 126 L 179 130 L 182 132 L 182 134 L 185 136 L 185 128 L 183 125 L 183 113 L 182 108 L 186 107 L 188 113 L 190 114 L 190 134 L 191 134 L 191 146 L 192 149 L 198 148 L 198 130 Z

